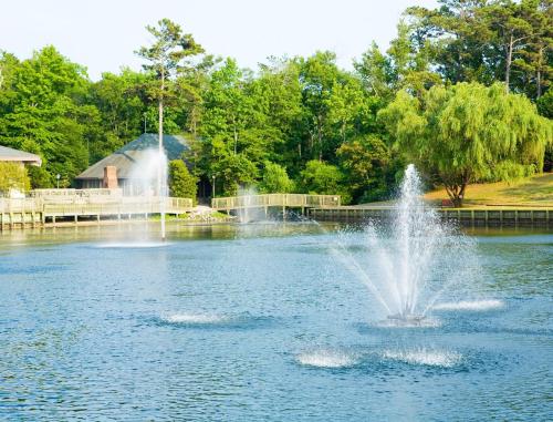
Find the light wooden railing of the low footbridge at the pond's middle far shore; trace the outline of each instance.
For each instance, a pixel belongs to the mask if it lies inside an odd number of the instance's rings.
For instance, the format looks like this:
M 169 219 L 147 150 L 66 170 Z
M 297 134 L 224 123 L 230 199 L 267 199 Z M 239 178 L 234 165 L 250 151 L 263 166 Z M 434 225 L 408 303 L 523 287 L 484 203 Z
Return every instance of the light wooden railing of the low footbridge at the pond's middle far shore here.
M 292 207 L 313 208 L 340 206 L 340 195 L 265 194 L 212 198 L 213 209 L 230 210 L 241 208 Z

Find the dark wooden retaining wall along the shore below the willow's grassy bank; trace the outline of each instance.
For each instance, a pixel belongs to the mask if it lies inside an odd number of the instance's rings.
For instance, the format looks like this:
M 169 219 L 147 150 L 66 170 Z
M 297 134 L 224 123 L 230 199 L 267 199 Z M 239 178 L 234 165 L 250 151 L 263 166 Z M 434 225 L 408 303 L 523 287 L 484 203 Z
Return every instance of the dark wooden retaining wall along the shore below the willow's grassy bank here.
M 312 208 L 309 216 L 320 222 L 362 223 L 368 219 L 389 219 L 396 208 L 379 207 L 324 207 Z M 551 207 L 471 207 L 436 208 L 442 219 L 456 222 L 462 226 L 553 226 Z

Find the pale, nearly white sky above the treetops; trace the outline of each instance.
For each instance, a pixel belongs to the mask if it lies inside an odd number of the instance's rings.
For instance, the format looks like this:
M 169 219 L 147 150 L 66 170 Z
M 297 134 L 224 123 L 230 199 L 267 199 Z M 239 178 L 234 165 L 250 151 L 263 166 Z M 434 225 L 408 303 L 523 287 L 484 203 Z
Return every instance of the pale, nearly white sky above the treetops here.
M 27 59 L 53 44 L 87 68 L 96 81 L 122 66 L 139 70 L 134 54 L 161 18 L 179 23 L 208 53 L 255 69 L 270 55 L 331 50 L 352 69 L 373 41 L 384 49 L 409 6 L 436 0 L 6 0 L 0 6 L 0 50 Z

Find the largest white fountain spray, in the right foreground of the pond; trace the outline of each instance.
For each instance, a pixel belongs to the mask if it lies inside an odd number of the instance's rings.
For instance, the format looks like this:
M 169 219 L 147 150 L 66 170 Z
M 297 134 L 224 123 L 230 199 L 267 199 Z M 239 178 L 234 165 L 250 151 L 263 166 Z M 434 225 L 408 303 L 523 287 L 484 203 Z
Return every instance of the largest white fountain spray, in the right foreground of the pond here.
M 369 265 L 349 250 L 347 234 L 332 246 L 338 260 L 378 299 L 390 325 L 427 326 L 426 316 L 444 292 L 474 279 L 469 275 L 476 268 L 472 241 L 441 222 L 421 193 L 420 177 L 410 164 L 392 224 L 365 227 L 373 255 Z

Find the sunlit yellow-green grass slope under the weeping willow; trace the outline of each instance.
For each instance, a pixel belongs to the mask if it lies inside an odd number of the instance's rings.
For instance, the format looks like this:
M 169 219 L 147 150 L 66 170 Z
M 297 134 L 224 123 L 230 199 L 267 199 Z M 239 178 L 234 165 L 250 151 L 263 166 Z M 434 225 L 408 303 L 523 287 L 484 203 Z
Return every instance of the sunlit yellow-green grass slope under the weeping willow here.
M 425 199 L 447 199 L 446 189 L 425 194 Z M 465 206 L 508 205 L 553 207 L 553 173 L 545 173 L 519 182 L 473 184 L 465 192 Z

